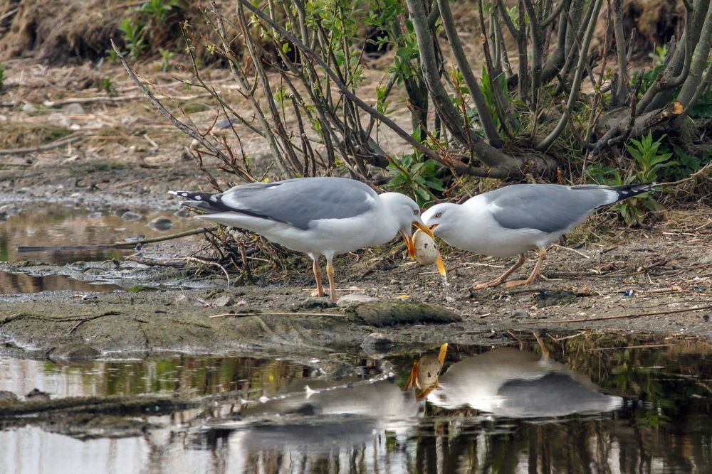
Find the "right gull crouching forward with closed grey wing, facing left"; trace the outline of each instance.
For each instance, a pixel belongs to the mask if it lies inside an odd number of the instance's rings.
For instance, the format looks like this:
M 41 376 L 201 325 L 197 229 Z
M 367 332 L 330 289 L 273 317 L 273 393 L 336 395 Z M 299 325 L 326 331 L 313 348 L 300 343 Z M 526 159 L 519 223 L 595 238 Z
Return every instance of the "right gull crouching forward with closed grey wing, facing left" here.
M 498 278 L 475 284 L 474 289 L 503 284 L 525 262 L 525 252 L 538 253 L 528 279 L 508 281 L 506 287 L 536 279 L 546 247 L 582 223 L 602 206 L 652 190 L 654 183 L 622 186 L 515 184 L 466 200 L 462 205 L 442 203 L 423 213 L 423 222 L 447 244 L 491 257 L 519 260 Z

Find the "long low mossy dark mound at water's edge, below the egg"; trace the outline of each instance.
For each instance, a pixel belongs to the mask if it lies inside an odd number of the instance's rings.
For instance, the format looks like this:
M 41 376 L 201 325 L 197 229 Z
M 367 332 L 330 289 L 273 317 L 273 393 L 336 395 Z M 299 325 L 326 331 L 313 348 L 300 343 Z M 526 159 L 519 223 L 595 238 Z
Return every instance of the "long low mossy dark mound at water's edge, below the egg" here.
M 377 301 L 351 310 L 366 324 L 386 326 L 418 323 L 459 323 L 462 318 L 449 309 L 418 301 Z

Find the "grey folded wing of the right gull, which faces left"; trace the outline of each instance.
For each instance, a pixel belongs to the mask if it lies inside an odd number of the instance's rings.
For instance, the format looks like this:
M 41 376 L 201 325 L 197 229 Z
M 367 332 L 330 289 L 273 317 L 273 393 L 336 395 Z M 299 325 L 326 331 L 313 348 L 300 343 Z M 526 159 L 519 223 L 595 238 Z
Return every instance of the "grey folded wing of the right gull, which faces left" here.
M 517 184 L 483 195 L 497 206 L 492 217 L 508 229 L 565 230 L 596 208 L 614 203 L 617 193 L 607 186 Z

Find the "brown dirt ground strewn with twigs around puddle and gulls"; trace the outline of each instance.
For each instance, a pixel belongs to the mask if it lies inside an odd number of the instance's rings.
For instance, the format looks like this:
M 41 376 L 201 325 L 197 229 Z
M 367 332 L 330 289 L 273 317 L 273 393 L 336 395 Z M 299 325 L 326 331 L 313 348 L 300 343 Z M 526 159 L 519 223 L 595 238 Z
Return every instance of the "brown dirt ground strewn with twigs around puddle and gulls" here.
M 206 177 L 185 153 L 189 139 L 152 109 L 116 65 L 49 68 L 33 60 L 8 60 L 5 66 L 0 149 L 70 142 L 45 151 L 1 154 L 0 205 L 37 201 L 175 209 L 167 190 L 209 190 Z M 209 128 L 216 112 L 199 92 L 186 92 L 171 78 L 182 72 L 158 72 L 155 63 L 139 70 L 165 92 L 182 96 L 186 114 Z M 368 74 L 374 83 L 381 77 L 377 71 Z M 114 98 L 98 87 L 106 77 L 112 80 Z M 227 99 L 240 103 L 226 71 L 211 71 L 211 80 L 224 85 Z M 267 156 L 255 136 L 246 135 L 243 145 L 256 163 Z M 221 185 L 229 184 L 219 163 L 204 164 Z M 214 288 L 207 290 L 0 296 L 0 352 L 56 358 L 115 351 L 329 352 L 360 344 L 375 331 L 394 343 L 511 343 L 517 332 L 529 330 L 712 335 L 712 211 L 703 205 L 669 209 L 664 220 L 644 229 L 612 227 L 609 217 L 595 217 L 561 242 L 564 247 L 550 249 L 543 277 L 518 289 L 471 290 L 474 282 L 492 279 L 513 259 L 485 259 L 453 249 L 443 248 L 447 286 L 434 268 L 410 262 L 400 242 L 337 260 L 340 296 L 434 303 L 457 315 L 448 323 L 409 310 L 397 325 L 374 324 L 353 308 L 326 307 L 309 299 L 310 262 L 298 257 L 290 271 L 273 268 L 257 274 L 251 284 L 230 289 L 215 276 L 208 280 Z M 182 257 L 199 245 L 197 237 L 157 244 L 142 253 L 142 262 Z M 517 276 L 526 276 L 532 265 L 530 260 Z M 226 296 L 229 306 L 222 305 Z M 313 311 L 331 316 L 300 316 Z M 392 311 L 388 306 L 376 312 Z M 230 312 L 261 314 L 208 317 Z M 293 312 L 298 314 L 283 314 Z

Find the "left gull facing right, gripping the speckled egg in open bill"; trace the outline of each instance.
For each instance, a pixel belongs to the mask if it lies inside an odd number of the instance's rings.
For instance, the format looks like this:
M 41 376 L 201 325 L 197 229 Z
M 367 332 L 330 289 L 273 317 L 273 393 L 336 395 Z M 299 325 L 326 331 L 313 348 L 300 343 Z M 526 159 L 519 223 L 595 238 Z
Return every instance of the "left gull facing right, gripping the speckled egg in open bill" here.
M 398 233 L 415 255 L 412 226 L 429 236 L 414 200 L 401 193 L 378 194 L 348 178 L 293 178 L 237 185 L 224 193 L 169 191 L 181 205 L 206 212 L 200 219 L 251 230 L 313 261 L 318 296 L 324 296 L 319 257 L 326 257 L 330 296 L 336 301 L 333 259 L 337 254 L 388 242 Z

